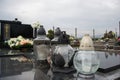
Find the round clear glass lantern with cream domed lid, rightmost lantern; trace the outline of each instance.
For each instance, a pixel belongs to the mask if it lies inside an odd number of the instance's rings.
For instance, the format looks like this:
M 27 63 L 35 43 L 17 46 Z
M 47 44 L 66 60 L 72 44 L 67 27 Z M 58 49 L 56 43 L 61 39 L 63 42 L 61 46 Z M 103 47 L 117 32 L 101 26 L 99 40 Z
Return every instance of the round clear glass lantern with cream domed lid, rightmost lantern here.
M 81 78 L 94 78 L 94 73 L 99 68 L 99 58 L 94 51 L 93 41 L 87 34 L 80 44 L 79 51 L 74 56 L 74 67 Z

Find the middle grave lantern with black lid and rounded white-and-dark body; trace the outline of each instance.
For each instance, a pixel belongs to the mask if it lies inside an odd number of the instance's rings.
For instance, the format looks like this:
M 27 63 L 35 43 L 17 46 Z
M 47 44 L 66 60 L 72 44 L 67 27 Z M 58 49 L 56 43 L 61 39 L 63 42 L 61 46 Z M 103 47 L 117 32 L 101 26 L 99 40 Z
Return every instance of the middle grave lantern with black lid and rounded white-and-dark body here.
M 70 67 L 70 61 L 74 54 L 73 48 L 69 45 L 70 41 L 66 32 L 61 32 L 60 37 L 58 38 L 58 44 L 55 47 L 52 62 L 55 67 Z

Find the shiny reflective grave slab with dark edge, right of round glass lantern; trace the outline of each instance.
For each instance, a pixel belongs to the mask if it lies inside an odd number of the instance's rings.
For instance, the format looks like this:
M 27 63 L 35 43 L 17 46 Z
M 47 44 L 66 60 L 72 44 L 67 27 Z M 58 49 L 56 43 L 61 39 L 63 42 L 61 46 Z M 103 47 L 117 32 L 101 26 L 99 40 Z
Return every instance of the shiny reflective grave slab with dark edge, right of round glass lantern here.
M 108 73 L 120 69 L 120 53 L 99 52 L 100 66 L 98 71 Z

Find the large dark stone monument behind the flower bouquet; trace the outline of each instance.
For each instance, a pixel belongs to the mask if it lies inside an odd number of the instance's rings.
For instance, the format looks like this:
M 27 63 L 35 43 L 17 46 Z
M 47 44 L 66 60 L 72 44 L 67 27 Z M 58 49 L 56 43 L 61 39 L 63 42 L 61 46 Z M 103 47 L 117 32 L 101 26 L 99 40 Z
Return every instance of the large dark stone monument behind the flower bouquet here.
M 0 42 L 19 35 L 33 38 L 33 28 L 30 24 L 22 24 L 17 18 L 14 21 L 0 20 Z

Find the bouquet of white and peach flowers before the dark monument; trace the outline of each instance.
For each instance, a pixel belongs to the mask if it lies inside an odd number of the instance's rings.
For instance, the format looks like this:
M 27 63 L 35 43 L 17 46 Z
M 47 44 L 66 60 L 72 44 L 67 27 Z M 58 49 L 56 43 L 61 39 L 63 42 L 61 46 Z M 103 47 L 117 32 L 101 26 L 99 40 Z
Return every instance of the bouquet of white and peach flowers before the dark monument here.
M 31 48 L 33 46 L 33 41 L 18 36 L 17 38 L 8 40 L 7 44 L 11 49 Z

